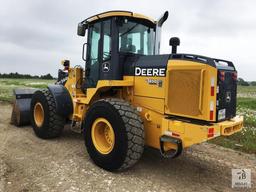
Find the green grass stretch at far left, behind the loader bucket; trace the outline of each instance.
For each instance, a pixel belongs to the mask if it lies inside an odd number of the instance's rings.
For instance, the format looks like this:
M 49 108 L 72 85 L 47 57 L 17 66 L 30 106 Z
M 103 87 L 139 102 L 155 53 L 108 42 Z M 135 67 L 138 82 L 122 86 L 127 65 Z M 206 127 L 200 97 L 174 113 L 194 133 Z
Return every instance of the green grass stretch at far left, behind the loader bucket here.
M 11 102 L 15 88 L 46 88 L 54 80 L 44 79 L 0 79 L 0 100 Z

